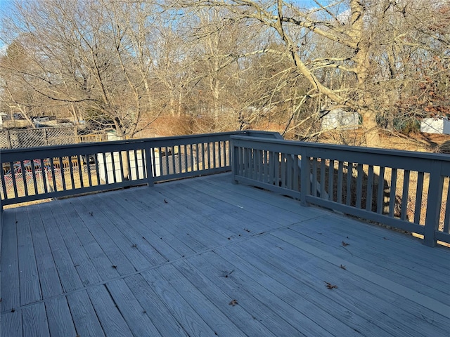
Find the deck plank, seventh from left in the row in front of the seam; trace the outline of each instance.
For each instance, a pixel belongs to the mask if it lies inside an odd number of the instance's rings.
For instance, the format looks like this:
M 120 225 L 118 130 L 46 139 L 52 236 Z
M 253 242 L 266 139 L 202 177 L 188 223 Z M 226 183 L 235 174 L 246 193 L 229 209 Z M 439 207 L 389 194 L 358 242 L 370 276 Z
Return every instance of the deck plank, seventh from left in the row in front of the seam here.
M 153 291 L 153 287 L 143 279 L 142 275 L 132 275 L 126 277 L 124 281 L 162 336 L 188 336 L 188 333 L 172 316 L 165 303 Z

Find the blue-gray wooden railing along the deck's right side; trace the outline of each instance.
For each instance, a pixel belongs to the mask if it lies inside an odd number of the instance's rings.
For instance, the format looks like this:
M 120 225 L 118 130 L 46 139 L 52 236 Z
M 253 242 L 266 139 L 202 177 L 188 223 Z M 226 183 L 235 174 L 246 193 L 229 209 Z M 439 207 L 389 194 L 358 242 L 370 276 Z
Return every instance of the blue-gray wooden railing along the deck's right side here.
M 450 156 L 233 136 L 233 179 L 450 243 Z

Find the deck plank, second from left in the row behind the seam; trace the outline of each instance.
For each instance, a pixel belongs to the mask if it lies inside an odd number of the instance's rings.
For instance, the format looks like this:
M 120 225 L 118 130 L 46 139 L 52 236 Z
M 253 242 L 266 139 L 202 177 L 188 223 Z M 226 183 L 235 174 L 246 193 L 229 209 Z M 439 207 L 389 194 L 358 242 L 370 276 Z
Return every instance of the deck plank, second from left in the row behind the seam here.
M 15 210 L 15 221 L 17 225 L 20 305 L 25 305 L 41 300 L 41 287 L 27 207 Z

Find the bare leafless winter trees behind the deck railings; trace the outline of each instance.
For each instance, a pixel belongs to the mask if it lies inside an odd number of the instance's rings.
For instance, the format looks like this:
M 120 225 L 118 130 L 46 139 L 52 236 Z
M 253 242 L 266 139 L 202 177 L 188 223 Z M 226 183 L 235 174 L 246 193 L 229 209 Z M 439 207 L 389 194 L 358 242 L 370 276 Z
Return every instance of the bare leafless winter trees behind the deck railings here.
M 322 110 L 361 115 L 365 144 L 449 107 L 442 0 L 34 0 L 3 13 L 0 100 L 132 137 L 271 126 L 320 134 Z M 180 131 L 181 132 L 181 131 Z

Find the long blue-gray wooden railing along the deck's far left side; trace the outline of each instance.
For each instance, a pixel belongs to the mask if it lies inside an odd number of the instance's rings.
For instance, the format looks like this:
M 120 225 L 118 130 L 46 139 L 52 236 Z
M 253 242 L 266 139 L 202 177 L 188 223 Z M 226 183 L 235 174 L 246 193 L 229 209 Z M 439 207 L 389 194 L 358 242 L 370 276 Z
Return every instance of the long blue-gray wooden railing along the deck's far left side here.
M 236 131 L 2 150 L 1 207 L 230 171 L 232 135 L 279 137 Z

